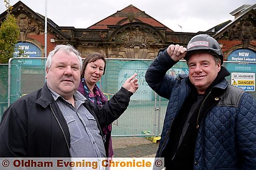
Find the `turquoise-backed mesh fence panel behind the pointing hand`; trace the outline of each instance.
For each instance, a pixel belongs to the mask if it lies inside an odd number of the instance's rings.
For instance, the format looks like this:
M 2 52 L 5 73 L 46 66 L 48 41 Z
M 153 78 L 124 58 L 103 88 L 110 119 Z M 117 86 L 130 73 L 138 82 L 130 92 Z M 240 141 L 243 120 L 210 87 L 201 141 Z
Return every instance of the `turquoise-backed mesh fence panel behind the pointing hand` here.
M 139 89 L 131 97 L 125 113 L 112 125 L 113 135 L 140 135 L 142 132 L 154 132 L 155 129 L 155 93 L 145 81 L 149 60 L 114 60 L 107 61 L 106 73 L 101 79 L 104 93 L 115 94 L 122 84 L 135 73 Z

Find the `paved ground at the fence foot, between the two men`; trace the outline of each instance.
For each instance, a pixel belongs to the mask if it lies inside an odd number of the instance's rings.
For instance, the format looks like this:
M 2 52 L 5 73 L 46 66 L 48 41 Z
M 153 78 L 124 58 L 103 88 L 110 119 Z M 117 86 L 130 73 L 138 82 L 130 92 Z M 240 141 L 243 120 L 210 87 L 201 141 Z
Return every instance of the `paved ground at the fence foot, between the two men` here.
M 114 157 L 155 157 L 158 143 L 144 137 L 113 138 Z

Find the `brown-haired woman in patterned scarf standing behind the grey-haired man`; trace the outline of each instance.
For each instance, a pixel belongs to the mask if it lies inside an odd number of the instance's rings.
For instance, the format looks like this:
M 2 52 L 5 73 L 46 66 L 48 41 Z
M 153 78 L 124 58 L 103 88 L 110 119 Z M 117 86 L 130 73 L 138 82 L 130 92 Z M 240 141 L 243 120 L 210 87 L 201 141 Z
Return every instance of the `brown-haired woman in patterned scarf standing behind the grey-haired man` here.
M 100 50 L 99 52 L 90 53 L 83 62 L 81 69 L 81 81 L 77 89 L 88 100 L 92 101 L 95 105 L 104 105 L 108 99 L 101 92 L 101 89 L 96 83 L 105 74 L 105 53 Z M 114 151 L 112 148 L 111 140 L 112 125 L 101 127 L 103 133 L 102 139 L 106 150 L 107 157 L 113 157 Z

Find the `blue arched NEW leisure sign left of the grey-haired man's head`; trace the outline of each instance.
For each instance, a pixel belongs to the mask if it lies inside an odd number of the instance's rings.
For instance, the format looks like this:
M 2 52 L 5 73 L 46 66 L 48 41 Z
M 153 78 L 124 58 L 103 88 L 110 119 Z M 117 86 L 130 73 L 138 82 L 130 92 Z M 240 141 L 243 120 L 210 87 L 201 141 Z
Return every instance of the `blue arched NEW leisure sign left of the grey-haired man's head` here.
M 13 57 L 42 57 L 41 50 L 34 44 L 28 42 L 19 42 L 15 44 L 16 50 L 13 53 Z M 23 51 L 22 55 L 19 55 L 20 50 Z M 25 65 L 40 65 L 39 60 L 27 60 L 23 61 Z

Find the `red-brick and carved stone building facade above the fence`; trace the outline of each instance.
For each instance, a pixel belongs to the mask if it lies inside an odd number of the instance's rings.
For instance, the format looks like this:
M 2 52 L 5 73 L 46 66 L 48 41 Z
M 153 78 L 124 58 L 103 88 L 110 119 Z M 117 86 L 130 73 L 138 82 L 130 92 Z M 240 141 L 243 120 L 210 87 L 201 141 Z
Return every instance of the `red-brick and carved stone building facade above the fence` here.
M 13 5 L 12 13 L 20 28 L 19 42 L 34 44 L 41 50 L 41 57 L 44 57 L 44 16 L 21 1 Z M 1 21 L 6 14 L 0 14 Z M 232 22 L 227 21 L 206 32 L 196 33 L 174 32 L 133 5 L 85 29 L 59 26 L 47 19 L 47 53 L 56 44 L 72 44 L 83 57 L 104 50 L 108 58 L 154 59 L 159 49 L 169 44 L 186 46 L 190 38 L 200 33 L 207 33 L 222 44 L 225 60 L 236 49 L 256 51 L 255 5 L 246 6 L 240 11 L 238 8 L 232 14 L 236 16 Z

